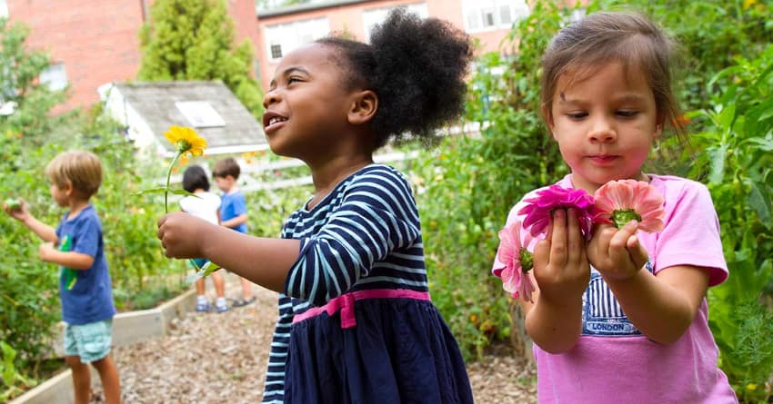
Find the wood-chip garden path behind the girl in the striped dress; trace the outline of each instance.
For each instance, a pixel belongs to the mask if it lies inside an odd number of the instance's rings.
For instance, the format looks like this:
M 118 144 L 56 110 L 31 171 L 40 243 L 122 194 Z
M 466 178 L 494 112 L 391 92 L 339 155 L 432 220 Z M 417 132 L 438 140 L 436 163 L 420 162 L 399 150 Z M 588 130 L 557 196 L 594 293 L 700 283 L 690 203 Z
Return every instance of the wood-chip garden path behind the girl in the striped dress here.
M 240 291 L 226 275 L 228 297 Z M 207 281 L 207 291 L 212 285 Z M 163 338 L 113 351 L 126 404 L 258 403 L 276 320 L 276 293 L 255 287 L 256 302 L 225 313 L 190 313 Z M 214 298 L 214 294 L 212 295 Z M 537 402 L 534 370 L 500 347 L 467 365 L 477 403 Z M 92 403 L 104 402 L 94 389 Z

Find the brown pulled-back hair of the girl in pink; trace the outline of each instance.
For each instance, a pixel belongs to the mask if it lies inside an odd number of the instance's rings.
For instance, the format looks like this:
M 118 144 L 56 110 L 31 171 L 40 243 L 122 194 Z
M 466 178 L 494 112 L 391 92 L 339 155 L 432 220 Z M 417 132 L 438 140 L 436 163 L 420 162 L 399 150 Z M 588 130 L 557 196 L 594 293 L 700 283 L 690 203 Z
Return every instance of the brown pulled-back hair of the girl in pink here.
M 545 119 L 561 76 L 576 83 L 610 62 L 623 64 L 644 75 L 655 96 L 658 123 L 671 124 L 681 140 L 684 127 L 678 119 L 677 99 L 671 90 L 676 44 L 646 16 L 637 13 L 604 12 L 587 15 L 567 25 L 553 37 L 542 56 L 540 102 Z

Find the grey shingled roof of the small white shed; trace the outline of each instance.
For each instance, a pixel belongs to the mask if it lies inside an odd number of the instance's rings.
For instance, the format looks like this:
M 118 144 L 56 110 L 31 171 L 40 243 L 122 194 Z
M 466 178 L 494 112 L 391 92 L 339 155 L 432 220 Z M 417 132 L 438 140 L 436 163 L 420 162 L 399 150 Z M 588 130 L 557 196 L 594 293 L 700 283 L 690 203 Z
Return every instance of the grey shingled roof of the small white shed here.
M 208 154 L 266 148 L 263 127 L 225 84 L 186 81 L 115 83 L 115 87 L 169 153 L 174 153 L 175 147 L 166 141 L 164 133 L 171 125 L 195 128 L 206 139 Z M 178 103 L 186 102 L 206 102 L 222 120 L 214 126 L 192 123 L 178 106 Z

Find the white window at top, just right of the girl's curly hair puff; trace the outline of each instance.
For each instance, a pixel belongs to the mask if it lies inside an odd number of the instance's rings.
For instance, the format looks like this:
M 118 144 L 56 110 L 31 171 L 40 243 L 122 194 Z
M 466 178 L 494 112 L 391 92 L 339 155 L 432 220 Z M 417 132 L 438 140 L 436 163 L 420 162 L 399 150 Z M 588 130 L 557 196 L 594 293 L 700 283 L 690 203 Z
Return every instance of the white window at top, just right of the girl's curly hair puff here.
M 525 0 L 462 0 L 467 32 L 509 29 L 529 14 Z

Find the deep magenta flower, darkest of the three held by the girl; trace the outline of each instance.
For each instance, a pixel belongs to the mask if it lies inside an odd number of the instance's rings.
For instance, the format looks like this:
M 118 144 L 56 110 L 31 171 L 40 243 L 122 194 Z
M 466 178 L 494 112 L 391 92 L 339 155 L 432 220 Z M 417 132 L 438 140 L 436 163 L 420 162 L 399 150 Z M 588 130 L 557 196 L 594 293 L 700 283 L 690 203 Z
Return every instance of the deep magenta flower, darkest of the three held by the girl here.
M 541 232 L 545 232 L 547 223 L 550 222 L 550 215 L 557 209 L 574 208 L 577 212 L 580 230 L 589 237 L 590 226 L 596 220 L 598 214 L 596 205 L 593 203 L 593 197 L 583 190 L 574 190 L 561 188 L 558 185 L 537 191 L 534 198 L 525 199 L 527 205 L 518 211 L 520 215 L 526 215 L 524 227 L 529 229 L 531 235 L 537 237 Z

